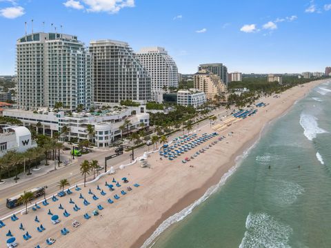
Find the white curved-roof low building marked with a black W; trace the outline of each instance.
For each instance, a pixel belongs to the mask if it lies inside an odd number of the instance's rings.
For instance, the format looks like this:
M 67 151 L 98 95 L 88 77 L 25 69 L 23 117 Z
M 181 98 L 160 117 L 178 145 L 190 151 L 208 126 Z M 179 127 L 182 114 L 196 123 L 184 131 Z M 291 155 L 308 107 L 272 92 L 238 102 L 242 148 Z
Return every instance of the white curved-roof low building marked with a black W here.
M 26 152 L 27 149 L 36 146 L 37 143 L 32 142 L 28 128 L 19 126 L 0 128 L 0 156 L 9 151 Z

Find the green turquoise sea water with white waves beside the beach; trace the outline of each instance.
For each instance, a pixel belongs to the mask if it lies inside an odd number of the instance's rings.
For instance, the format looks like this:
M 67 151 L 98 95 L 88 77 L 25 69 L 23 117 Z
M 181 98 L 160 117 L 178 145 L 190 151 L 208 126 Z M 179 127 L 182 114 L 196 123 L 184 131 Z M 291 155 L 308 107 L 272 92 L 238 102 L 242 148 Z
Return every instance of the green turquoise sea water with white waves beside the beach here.
M 331 247 L 330 96 L 331 83 L 320 85 L 269 125 L 225 185 L 153 248 Z

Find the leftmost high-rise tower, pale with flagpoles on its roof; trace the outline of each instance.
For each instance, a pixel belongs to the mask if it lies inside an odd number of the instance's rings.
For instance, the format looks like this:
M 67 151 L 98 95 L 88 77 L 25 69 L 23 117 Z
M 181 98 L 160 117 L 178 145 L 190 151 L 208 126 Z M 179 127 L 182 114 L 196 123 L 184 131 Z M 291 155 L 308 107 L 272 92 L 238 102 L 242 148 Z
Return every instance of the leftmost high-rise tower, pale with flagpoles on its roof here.
M 90 55 L 77 37 L 59 33 L 28 34 L 17 40 L 18 107 L 88 109 L 91 103 Z

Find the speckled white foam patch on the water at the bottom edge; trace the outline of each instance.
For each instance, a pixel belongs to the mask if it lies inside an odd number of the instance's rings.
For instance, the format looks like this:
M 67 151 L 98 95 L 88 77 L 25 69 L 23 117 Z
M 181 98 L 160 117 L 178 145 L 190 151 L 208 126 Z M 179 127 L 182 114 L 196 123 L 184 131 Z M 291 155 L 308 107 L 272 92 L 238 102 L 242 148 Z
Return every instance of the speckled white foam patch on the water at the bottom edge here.
M 248 214 L 245 236 L 239 248 L 281 247 L 290 248 L 288 241 L 292 228 L 266 213 Z

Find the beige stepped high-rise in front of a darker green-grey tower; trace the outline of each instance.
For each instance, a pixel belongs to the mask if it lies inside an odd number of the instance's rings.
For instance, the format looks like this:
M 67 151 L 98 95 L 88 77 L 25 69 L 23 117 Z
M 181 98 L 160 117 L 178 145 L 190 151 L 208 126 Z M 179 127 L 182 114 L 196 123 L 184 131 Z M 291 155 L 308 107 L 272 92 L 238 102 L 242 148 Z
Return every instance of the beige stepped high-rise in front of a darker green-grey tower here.
M 194 74 L 194 88 L 205 92 L 209 101 L 214 101 L 216 95 L 221 95 L 227 91 L 225 83 L 219 76 L 206 70 L 199 70 Z

